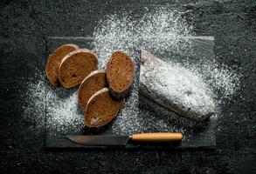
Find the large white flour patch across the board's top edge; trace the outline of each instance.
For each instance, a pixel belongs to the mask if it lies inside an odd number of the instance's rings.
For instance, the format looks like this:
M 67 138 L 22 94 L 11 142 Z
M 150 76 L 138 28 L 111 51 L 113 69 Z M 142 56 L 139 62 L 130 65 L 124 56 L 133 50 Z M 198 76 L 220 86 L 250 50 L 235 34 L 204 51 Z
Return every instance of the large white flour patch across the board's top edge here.
M 128 13 L 114 14 L 100 20 L 93 32 L 93 49 L 102 57 L 104 67 L 113 50 L 124 50 L 134 55 L 135 50 L 172 50 L 183 53 L 190 48 L 193 27 L 185 23 L 183 12 L 156 8 L 134 19 Z M 143 46 L 142 46 L 143 45 Z

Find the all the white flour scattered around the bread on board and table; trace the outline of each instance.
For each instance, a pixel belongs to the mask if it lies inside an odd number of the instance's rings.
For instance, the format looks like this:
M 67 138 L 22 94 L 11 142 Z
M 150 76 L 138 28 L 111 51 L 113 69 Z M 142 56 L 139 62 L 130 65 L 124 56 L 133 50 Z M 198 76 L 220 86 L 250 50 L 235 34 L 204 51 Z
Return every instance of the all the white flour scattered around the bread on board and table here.
M 183 12 L 178 10 L 156 8 L 136 19 L 125 12 L 121 16 L 114 14 L 104 17 L 93 32 L 95 40 L 92 47 L 100 56 L 99 67 L 104 67 L 113 50 L 124 50 L 131 56 L 136 54 L 135 49 L 138 50 L 141 45 L 146 50 L 172 50 L 177 54 L 190 50 L 190 40 L 182 37 L 193 35 L 193 27 L 184 21 L 182 14 Z M 135 63 L 135 76 L 138 77 L 137 59 Z M 197 74 L 198 78 L 202 78 L 207 87 L 218 92 L 221 98 L 214 98 L 215 100 L 232 98 L 239 89 L 239 75 L 231 67 L 217 64 L 215 59 L 209 62 L 202 60 L 198 64 L 188 62 L 184 67 Z M 181 70 L 180 73 L 183 72 L 186 70 Z M 83 129 L 83 114 L 77 106 L 76 89 L 67 91 L 51 87 L 40 70 L 36 79 L 37 81 L 28 82 L 28 90 L 23 95 L 28 101 L 24 107 L 24 116 L 40 122 L 38 126 L 42 126 L 44 125 L 42 117 L 45 117 L 46 113 L 48 129 L 61 133 L 65 133 L 66 130 Z M 186 131 L 193 126 L 193 124 L 182 124 L 183 122 L 179 120 L 182 118 L 175 121 L 157 113 L 153 116 L 150 108 L 140 110 L 137 89 L 138 82 L 134 84 L 134 90 L 121 113 L 110 125 L 113 133 L 127 134 L 149 131 L 149 129 Z

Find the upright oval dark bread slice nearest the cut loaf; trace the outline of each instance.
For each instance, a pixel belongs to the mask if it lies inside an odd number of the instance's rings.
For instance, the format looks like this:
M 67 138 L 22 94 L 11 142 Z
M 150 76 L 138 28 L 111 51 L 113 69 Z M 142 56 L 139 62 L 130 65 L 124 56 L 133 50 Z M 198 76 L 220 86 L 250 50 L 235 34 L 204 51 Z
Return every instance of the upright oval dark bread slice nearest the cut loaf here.
M 126 97 L 133 84 L 135 64 L 131 57 L 121 51 L 115 51 L 107 62 L 106 73 L 109 90 L 113 97 Z

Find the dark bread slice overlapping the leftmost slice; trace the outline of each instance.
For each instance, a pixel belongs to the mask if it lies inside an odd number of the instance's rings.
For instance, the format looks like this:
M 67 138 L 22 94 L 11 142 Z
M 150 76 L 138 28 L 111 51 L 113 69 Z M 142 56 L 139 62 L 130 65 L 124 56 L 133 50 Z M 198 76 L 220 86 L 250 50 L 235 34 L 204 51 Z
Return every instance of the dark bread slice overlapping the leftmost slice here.
M 98 57 L 92 50 L 74 50 L 59 65 L 59 82 L 65 88 L 80 84 L 98 67 Z

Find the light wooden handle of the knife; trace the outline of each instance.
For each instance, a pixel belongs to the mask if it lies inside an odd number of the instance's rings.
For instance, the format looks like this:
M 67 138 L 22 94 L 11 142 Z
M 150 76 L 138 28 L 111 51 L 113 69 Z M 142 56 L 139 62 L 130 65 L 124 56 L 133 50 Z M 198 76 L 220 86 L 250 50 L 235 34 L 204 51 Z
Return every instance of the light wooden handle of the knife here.
M 180 132 L 157 132 L 133 134 L 130 137 L 133 141 L 139 142 L 178 142 L 182 141 L 183 134 Z

